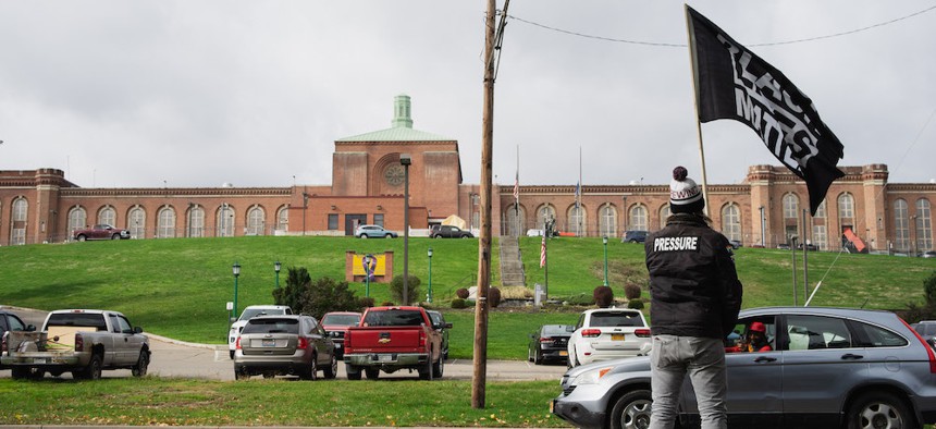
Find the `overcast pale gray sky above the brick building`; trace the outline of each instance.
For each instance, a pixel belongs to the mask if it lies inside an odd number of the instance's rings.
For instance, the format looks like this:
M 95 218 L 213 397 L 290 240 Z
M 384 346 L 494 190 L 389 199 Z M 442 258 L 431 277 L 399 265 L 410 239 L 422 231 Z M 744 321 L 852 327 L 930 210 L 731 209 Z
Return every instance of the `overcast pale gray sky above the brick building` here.
M 518 148 L 522 185 L 575 184 L 579 151 L 586 185 L 664 184 L 677 164 L 698 180 L 682 4 L 512 1 L 495 182 L 513 184 Z M 813 99 L 839 166 L 936 177 L 936 1 L 689 4 Z M 0 0 L 0 170 L 62 169 L 84 187 L 327 185 L 334 140 L 390 127 L 406 94 L 414 127 L 457 139 L 478 183 L 485 7 Z M 738 122 L 702 135 L 711 184 L 779 164 Z

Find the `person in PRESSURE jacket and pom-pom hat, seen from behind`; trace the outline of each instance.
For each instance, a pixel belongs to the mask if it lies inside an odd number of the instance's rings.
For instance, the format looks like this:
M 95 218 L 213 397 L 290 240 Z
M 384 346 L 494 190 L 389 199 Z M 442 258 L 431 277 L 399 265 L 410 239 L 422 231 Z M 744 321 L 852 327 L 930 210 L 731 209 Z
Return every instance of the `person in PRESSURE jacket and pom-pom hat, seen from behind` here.
M 723 340 L 738 321 L 741 282 L 728 238 L 710 226 L 702 192 L 688 174 L 683 167 L 673 170 L 673 214 L 644 242 L 653 335 L 650 429 L 674 427 L 687 375 L 702 429 L 728 427 Z

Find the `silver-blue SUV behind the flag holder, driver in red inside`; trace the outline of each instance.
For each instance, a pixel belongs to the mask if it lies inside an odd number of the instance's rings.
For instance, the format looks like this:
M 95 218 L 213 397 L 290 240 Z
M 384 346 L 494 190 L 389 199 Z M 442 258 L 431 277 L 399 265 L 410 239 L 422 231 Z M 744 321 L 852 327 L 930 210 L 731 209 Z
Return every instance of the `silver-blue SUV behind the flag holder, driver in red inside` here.
M 773 351 L 726 354 L 728 427 L 921 428 L 936 422 L 936 354 L 890 311 L 772 307 L 741 311 Z M 681 427 L 699 426 L 687 381 Z M 645 427 L 650 358 L 568 370 L 552 412 L 581 428 Z

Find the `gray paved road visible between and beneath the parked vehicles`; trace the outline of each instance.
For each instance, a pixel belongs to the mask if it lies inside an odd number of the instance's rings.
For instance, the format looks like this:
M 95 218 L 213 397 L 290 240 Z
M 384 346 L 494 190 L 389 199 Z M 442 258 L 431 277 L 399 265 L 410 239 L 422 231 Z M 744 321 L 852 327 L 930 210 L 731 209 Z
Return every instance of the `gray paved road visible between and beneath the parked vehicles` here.
M 22 314 L 22 311 L 15 311 Z M 24 317 L 25 316 L 25 317 Z M 21 315 L 23 321 L 42 324 L 44 315 Z M 200 378 L 209 380 L 234 380 L 234 364 L 229 357 L 226 345 L 192 344 L 147 334 L 150 339 L 152 360 L 149 375 L 167 378 Z M 556 385 L 566 371 L 565 365 L 533 365 L 525 360 L 488 360 L 488 380 L 522 381 L 555 380 Z M 10 378 L 10 370 L 0 370 L 0 378 Z M 473 363 L 470 359 L 449 359 L 445 361 L 444 379 L 470 380 Z M 319 373 L 321 377 L 321 373 Z M 46 377 L 50 377 L 46 375 Z M 131 377 L 130 370 L 104 371 L 103 377 Z M 414 371 L 398 371 L 392 375 L 381 372 L 381 378 L 419 379 Z M 71 378 L 63 375 L 62 378 Z M 258 377 L 259 378 L 259 377 Z M 347 380 L 344 364 L 338 363 L 340 380 Z

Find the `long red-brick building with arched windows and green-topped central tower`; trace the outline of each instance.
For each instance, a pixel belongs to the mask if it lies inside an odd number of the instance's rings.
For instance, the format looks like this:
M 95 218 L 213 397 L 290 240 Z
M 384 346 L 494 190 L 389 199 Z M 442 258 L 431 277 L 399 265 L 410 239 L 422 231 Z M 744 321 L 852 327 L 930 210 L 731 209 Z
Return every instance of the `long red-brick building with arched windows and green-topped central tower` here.
M 390 128 L 334 142 L 332 183 L 288 187 L 85 188 L 56 169 L 0 171 L 0 245 L 65 242 L 71 232 L 109 223 L 134 238 L 239 235 L 349 235 L 360 223 L 404 229 L 409 155 L 412 235 L 455 214 L 479 222 L 477 184 L 464 184 L 458 142 L 412 127 L 410 100 L 397 96 Z M 888 183 L 887 166 L 842 167 L 816 217 L 805 184 L 781 167 L 752 166 L 741 184 L 709 185 L 713 226 L 744 245 L 773 247 L 796 234 L 837 249 L 845 230 L 872 250 L 934 248 L 931 207 L 936 183 Z M 655 230 L 668 214 L 668 184 L 495 186 L 495 235 L 542 229 L 554 217 L 562 231 L 620 237 Z

